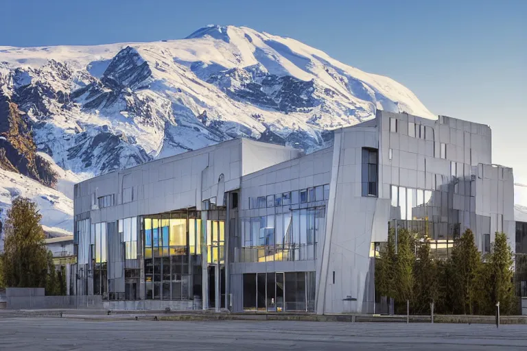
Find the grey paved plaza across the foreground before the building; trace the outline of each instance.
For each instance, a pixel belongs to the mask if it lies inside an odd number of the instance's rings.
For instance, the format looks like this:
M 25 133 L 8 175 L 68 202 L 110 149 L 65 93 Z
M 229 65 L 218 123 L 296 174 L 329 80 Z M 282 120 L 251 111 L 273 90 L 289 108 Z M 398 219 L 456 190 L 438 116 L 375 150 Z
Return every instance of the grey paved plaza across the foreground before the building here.
M 3 317 L 0 350 L 527 350 L 527 326 Z

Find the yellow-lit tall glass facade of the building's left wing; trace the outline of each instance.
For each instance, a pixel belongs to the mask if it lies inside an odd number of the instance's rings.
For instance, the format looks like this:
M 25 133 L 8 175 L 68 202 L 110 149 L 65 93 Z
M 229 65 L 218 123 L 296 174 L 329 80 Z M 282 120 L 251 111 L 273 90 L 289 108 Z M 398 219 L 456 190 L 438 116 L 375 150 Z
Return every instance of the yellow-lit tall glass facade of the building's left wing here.
M 200 215 L 180 211 L 116 222 L 75 221 L 76 290 L 103 300 L 201 298 Z M 207 224 L 208 261 L 224 264 L 224 221 Z

